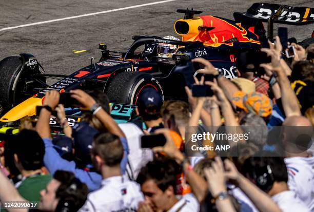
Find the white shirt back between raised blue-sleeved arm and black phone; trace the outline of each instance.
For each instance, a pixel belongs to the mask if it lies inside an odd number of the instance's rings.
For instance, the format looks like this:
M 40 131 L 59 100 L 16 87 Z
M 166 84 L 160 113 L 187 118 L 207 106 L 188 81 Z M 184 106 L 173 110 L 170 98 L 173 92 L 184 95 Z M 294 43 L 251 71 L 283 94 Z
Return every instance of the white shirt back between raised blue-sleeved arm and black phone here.
M 123 123 L 119 124 L 119 127 L 124 132 L 129 146 L 127 174 L 130 177 L 132 175 L 135 180 L 141 168 L 153 160 L 153 152 L 151 149 L 141 148 L 141 137 L 144 133 L 138 126 L 133 123 Z

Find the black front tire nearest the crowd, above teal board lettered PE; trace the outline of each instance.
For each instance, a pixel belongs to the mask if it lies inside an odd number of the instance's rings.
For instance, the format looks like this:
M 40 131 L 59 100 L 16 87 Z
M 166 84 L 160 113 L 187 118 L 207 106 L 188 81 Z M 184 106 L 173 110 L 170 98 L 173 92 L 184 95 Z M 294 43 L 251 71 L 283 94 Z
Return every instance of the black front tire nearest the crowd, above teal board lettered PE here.
M 115 74 L 108 83 L 105 93 L 110 102 L 136 105 L 137 97 L 145 87 L 156 89 L 164 100 L 160 83 L 149 73 L 121 72 Z

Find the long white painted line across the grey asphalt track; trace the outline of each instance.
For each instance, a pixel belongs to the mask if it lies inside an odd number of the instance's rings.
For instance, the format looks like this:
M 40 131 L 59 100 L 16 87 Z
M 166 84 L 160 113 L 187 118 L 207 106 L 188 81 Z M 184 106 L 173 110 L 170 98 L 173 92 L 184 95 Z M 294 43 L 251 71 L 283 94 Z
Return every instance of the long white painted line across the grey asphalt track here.
M 84 15 L 76 15 L 76 16 L 71 16 L 71 17 L 58 18 L 58 19 L 44 21 L 44 22 L 36 22 L 36 23 L 31 23 L 31 24 L 19 25 L 19 26 L 15 26 L 15 27 L 2 28 L 2 29 L 0 29 L 0 31 L 5 31 L 5 30 L 9 30 L 9 29 L 16 29 L 16 28 L 21 28 L 21 27 L 29 27 L 29 26 L 38 25 L 38 24 L 47 24 L 47 23 L 52 23 L 52 22 L 60 22 L 60 21 L 69 20 L 69 19 L 78 18 L 78 17 L 86 17 L 86 16 L 91 16 L 91 15 L 98 15 L 98 14 L 103 14 L 103 13 L 108 13 L 108 12 L 115 12 L 115 11 L 120 11 L 120 10 L 127 10 L 127 9 L 133 9 L 133 8 L 138 8 L 138 7 L 145 7 L 145 6 L 149 6 L 149 5 L 156 5 L 156 4 L 162 4 L 162 3 L 167 3 L 167 2 L 173 2 L 173 1 L 176 1 L 176 0 L 166 0 L 166 1 L 161 1 L 161 2 L 152 2 L 152 3 L 142 4 L 142 5 L 134 5 L 134 6 L 130 6 L 130 7 L 117 8 L 117 9 L 113 9 L 113 10 L 105 10 L 105 11 L 101 11 L 101 12 L 88 13 L 88 14 L 84 14 Z

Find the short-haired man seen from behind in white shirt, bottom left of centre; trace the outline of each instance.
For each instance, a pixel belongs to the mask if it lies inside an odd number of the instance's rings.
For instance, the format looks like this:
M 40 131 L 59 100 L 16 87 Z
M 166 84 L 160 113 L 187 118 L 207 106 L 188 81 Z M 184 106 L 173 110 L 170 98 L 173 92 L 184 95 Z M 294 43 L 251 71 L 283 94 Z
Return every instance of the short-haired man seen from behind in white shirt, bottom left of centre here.
M 144 198 L 140 186 L 121 175 L 123 146 L 119 137 L 111 133 L 97 136 L 91 156 L 103 176 L 102 187 L 88 195 L 80 211 L 136 211 Z

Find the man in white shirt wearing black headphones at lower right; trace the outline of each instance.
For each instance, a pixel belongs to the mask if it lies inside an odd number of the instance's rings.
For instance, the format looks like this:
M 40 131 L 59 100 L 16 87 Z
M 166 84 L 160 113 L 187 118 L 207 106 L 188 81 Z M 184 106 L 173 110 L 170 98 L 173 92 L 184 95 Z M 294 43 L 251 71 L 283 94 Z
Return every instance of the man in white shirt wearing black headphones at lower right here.
M 289 190 L 283 157 L 272 152 L 258 152 L 254 157 L 246 159 L 242 168 L 244 174 L 265 191 L 283 212 L 310 211 L 295 191 Z

